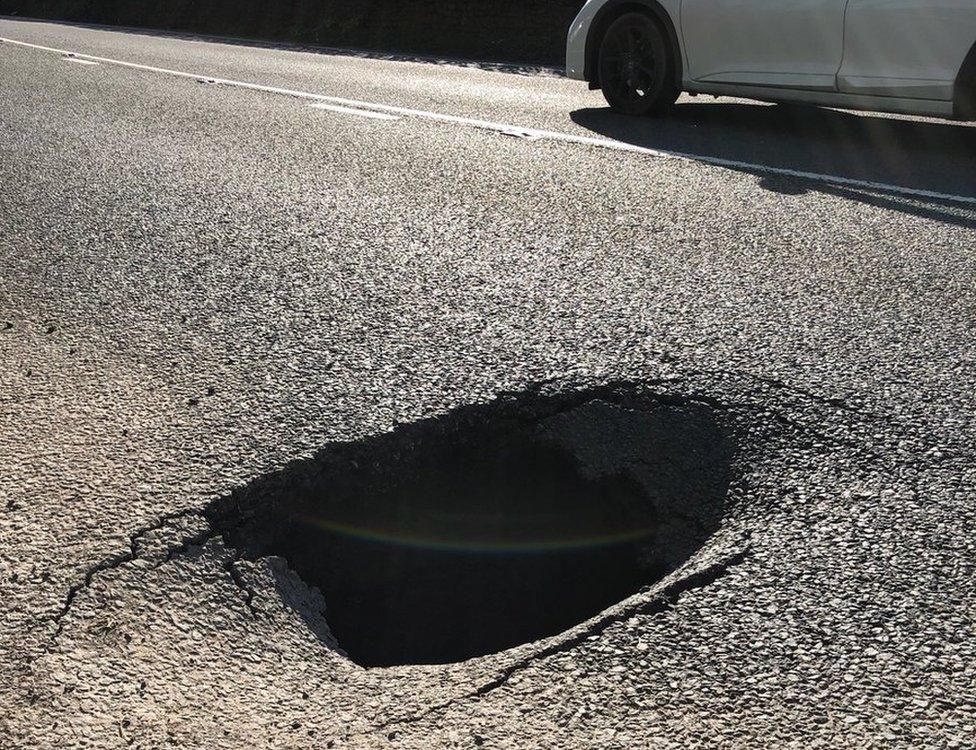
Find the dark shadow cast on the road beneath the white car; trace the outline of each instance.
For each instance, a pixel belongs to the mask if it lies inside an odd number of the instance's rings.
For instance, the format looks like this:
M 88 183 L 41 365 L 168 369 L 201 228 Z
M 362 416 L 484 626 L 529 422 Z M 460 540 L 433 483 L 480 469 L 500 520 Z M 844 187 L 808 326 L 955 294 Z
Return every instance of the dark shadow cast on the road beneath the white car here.
M 976 127 L 969 124 L 742 102 L 681 103 L 669 117 L 653 120 L 619 115 L 609 108 L 578 109 L 570 117 L 587 130 L 624 143 L 690 159 L 737 162 L 723 166 L 754 174 L 760 185 L 775 192 L 813 190 L 936 221 L 976 225 L 972 204 L 803 180 L 762 169 L 976 198 Z

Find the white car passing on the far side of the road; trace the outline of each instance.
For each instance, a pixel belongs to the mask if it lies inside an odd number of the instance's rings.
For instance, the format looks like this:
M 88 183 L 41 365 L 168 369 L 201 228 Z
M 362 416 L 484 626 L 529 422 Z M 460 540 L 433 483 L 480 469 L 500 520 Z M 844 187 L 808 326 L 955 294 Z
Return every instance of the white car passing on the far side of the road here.
M 636 115 L 687 91 L 976 119 L 976 0 L 588 0 L 566 72 Z

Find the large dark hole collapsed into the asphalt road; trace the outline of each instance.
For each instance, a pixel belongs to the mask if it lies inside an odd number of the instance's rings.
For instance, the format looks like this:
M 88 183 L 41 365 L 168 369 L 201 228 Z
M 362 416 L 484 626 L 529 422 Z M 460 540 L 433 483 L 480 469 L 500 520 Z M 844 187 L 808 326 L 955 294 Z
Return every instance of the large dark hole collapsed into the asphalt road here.
M 508 396 L 330 446 L 211 520 L 318 587 L 357 663 L 455 662 L 558 634 L 673 570 L 719 525 L 730 453 L 699 402 Z

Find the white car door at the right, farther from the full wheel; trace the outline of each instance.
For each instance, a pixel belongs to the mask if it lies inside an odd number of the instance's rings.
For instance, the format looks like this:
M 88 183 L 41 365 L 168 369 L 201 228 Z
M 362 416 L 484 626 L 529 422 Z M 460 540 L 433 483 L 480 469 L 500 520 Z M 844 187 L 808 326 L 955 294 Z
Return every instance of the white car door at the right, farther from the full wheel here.
M 951 100 L 976 42 L 976 0 L 850 0 L 844 63 L 850 94 Z

